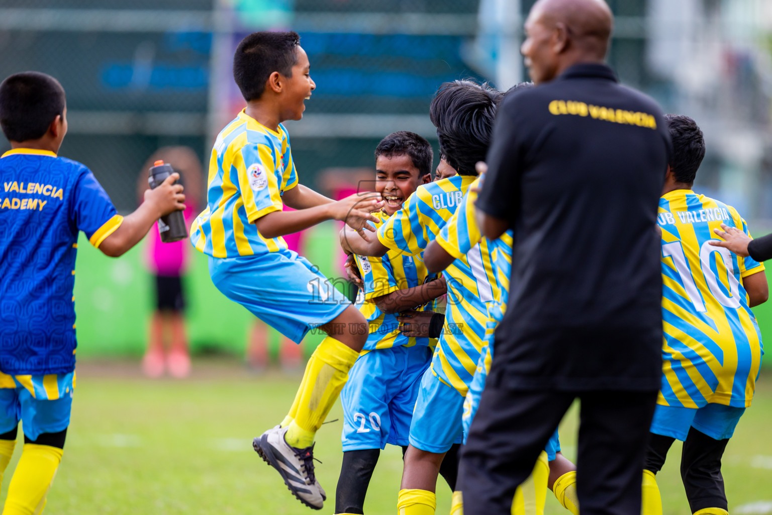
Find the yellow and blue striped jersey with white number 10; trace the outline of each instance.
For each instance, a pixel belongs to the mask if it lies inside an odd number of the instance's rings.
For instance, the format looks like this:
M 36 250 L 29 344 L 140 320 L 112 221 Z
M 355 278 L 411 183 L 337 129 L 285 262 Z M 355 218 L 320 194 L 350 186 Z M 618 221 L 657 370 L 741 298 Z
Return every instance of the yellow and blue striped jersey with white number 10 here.
M 659 200 L 662 357 L 659 404 L 750 406 L 764 354 L 743 277 L 764 265 L 709 244 L 723 222 L 748 233 L 736 209 L 690 190 Z

